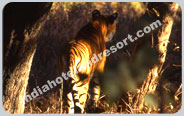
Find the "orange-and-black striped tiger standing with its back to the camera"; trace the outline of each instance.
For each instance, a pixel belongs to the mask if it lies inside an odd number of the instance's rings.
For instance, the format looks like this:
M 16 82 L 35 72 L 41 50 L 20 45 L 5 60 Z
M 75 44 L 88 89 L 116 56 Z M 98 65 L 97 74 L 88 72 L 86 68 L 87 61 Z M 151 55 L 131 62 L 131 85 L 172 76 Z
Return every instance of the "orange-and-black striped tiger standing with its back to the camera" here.
M 103 15 L 99 10 L 91 13 L 92 18 L 69 41 L 58 56 L 58 70 L 70 71 L 70 78 L 63 81 L 63 110 L 65 113 L 86 113 L 85 107 L 90 84 L 93 83 L 93 100 L 97 103 L 100 97 L 100 85 L 97 76 L 104 71 L 106 56 L 105 43 L 111 41 L 117 25 L 118 13 Z M 91 62 L 94 55 L 101 55 L 100 61 Z M 93 78 L 94 77 L 94 78 Z M 94 86 L 95 85 L 95 86 Z

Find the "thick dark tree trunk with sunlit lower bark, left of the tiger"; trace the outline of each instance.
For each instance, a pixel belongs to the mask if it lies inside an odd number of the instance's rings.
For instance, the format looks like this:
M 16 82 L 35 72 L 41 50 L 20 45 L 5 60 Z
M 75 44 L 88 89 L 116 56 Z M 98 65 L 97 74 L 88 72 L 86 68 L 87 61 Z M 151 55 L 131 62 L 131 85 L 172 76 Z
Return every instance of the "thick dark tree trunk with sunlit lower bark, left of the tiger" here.
M 37 38 L 51 3 L 10 3 L 3 12 L 3 106 L 24 113 L 26 88 Z

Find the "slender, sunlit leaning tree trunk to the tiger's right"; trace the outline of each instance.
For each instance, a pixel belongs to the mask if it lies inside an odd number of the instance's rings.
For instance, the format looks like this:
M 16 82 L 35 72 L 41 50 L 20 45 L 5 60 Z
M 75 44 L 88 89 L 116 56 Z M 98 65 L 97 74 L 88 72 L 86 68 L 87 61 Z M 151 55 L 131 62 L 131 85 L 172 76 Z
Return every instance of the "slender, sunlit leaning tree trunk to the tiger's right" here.
M 168 5 L 168 10 L 165 9 L 166 12 L 161 18 L 162 27 L 156 32 L 157 43 L 156 46 L 154 46 L 158 52 L 159 63 L 155 64 L 152 69 L 149 69 L 146 80 L 143 82 L 141 88 L 138 90 L 135 96 L 134 109 L 136 109 L 136 113 L 139 113 L 139 111 L 143 109 L 145 95 L 154 94 L 157 87 L 158 78 L 167 54 L 167 45 L 174 22 L 174 16 L 176 15 L 178 7 L 178 4 L 170 3 Z M 160 7 L 160 9 L 162 8 Z

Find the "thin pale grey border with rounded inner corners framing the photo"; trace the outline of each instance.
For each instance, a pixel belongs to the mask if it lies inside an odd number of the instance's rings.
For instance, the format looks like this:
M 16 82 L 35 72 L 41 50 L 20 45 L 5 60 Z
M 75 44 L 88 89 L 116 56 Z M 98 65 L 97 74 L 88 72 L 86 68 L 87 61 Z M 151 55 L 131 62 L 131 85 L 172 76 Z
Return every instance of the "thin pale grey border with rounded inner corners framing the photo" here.
M 182 9 L 182 39 L 183 39 L 183 34 L 184 34 L 184 30 L 183 30 L 183 27 L 184 27 L 184 24 L 183 24 L 183 15 L 184 15 L 184 12 L 183 12 L 183 8 L 184 8 L 184 1 L 183 0 L 0 0 L 0 54 L 1 54 L 1 57 L 0 57 L 0 86 L 1 86 L 1 89 L 0 89 L 0 114 L 3 115 L 3 116 L 10 116 L 12 114 L 6 112 L 3 108 L 3 103 L 2 103 L 2 71 L 3 71 L 3 21 L 2 21 L 2 18 L 3 18 L 3 9 L 4 7 L 10 3 L 10 2 L 176 2 L 180 5 L 181 9 Z M 184 50 L 184 41 L 182 41 L 182 53 L 183 53 L 183 50 Z M 182 55 L 183 56 L 183 55 Z M 182 67 L 183 67 L 183 62 L 184 62 L 184 58 L 182 57 Z M 183 86 L 183 73 L 184 73 L 184 69 L 182 68 L 182 86 Z M 182 107 L 181 109 L 174 113 L 174 114 L 149 114 L 151 116 L 158 116 L 158 115 L 163 115 L 163 116 L 168 116 L 168 115 L 176 115 L 176 116 L 183 116 L 184 115 L 184 89 L 182 89 Z M 111 116 L 118 116 L 118 115 L 147 115 L 147 114 L 13 114 L 15 116 L 18 116 L 18 115 L 27 115 L 27 116 L 31 116 L 31 115 L 57 115 L 57 116 L 60 116 L 60 115 L 111 115 Z

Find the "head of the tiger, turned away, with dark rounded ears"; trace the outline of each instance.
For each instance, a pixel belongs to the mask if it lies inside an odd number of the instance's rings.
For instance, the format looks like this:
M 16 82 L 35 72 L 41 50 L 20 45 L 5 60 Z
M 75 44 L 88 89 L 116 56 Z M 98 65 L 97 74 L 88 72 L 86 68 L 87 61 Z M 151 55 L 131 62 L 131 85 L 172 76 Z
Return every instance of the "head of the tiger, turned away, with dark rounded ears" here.
M 100 26 L 105 42 L 112 40 L 116 32 L 117 17 L 118 13 L 102 15 L 98 10 L 92 12 L 92 23 Z

